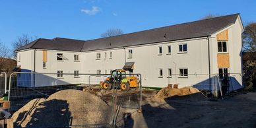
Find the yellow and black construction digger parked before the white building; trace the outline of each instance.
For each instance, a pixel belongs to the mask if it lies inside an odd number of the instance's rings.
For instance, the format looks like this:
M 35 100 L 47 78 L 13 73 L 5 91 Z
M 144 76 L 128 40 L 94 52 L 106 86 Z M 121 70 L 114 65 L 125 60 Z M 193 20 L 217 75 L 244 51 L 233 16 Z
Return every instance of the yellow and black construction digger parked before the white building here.
M 124 69 L 115 69 L 110 77 L 100 82 L 100 87 L 104 90 L 111 90 L 114 87 L 121 91 L 129 91 L 130 88 L 138 88 L 139 80 L 134 76 L 127 76 Z

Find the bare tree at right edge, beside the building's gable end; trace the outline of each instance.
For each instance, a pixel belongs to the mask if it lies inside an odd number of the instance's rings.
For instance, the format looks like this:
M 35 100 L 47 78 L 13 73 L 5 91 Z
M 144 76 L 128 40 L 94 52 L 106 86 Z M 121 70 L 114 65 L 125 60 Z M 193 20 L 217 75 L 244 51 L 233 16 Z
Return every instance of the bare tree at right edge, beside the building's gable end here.
M 242 34 L 243 40 L 243 72 L 249 74 L 256 82 L 256 22 L 249 22 Z M 245 74 L 246 75 L 246 74 Z M 246 76 L 245 76 L 246 77 Z

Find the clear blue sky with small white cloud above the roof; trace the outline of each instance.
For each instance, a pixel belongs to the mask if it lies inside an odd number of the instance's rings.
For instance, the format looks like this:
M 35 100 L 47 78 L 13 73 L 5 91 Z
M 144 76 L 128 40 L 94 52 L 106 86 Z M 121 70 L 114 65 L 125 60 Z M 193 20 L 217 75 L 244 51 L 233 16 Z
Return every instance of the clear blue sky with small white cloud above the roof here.
M 38 38 L 100 38 L 108 28 L 125 33 L 199 20 L 212 13 L 240 13 L 256 21 L 256 1 L 230 0 L 0 0 L 0 42 L 22 34 Z

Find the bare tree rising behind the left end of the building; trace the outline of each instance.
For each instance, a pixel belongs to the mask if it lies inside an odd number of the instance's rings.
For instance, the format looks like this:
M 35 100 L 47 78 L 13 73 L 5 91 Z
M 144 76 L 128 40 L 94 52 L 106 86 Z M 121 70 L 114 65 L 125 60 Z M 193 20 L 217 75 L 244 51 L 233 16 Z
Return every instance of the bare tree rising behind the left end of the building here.
M 13 42 L 13 49 L 11 56 L 13 59 L 16 59 L 17 55 L 15 53 L 15 50 L 18 48 L 21 48 L 22 46 L 25 46 L 26 44 L 29 44 L 32 42 L 33 38 L 31 36 L 28 36 L 28 34 L 22 34 L 22 36 L 19 36 L 15 42 Z

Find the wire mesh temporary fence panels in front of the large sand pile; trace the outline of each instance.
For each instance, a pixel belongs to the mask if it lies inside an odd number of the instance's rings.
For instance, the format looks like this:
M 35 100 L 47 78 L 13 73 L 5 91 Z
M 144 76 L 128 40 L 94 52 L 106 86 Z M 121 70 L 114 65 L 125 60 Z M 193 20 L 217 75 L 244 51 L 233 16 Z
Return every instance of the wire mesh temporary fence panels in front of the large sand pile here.
M 20 127 L 115 126 L 120 108 L 141 110 L 141 75 L 129 75 L 138 77 L 137 90 L 121 92 L 115 80 L 112 90 L 89 93 L 90 88 L 99 86 L 110 75 L 12 73 L 9 80 L 9 112 L 13 113 L 15 125 Z

